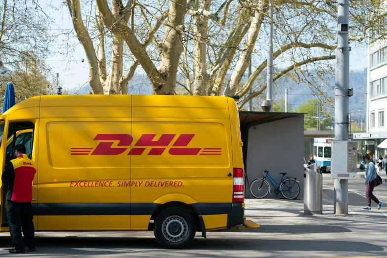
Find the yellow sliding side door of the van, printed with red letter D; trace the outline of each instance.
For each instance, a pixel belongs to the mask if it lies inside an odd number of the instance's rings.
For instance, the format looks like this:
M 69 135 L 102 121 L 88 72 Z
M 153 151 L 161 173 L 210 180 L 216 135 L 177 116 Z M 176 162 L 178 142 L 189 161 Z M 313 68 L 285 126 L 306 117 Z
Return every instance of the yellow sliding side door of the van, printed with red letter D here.
M 39 230 L 129 230 L 130 96 L 63 99 L 42 97 Z

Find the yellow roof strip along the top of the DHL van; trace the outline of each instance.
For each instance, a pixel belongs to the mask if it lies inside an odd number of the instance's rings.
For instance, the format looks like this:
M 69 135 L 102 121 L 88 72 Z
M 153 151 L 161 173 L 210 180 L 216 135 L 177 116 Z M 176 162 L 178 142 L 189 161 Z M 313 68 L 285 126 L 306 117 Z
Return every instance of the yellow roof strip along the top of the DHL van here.
M 152 112 L 177 112 L 181 113 L 184 109 L 185 112 L 189 112 L 191 118 L 215 118 L 215 113 L 222 113 L 220 116 L 223 119 L 224 115 L 228 115 L 228 101 L 226 97 L 217 96 L 186 96 L 186 95 L 42 95 L 32 97 L 22 102 L 19 102 L 15 106 L 7 110 L 4 115 L 12 114 L 12 117 L 23 116 L 22 114 L 29 113 L 28 117 L 31 118 L 43 118 L 43 117 L 86 117 L 86 113 L 89 113 L 91 109 L 95 112 L 106 113 L 103 110 L 107 107 L 127 107 L 134 112 L 136 107 L 149 107 L 153 108 Z M 104 108 L 101 108 L 104 107 Z M 85 108 L 88 110 L 86 111 Z M 205 113 L 200 112 L 200 109 L 211 109 L 214 112 L 210 117 L 206 114 L 193 114 L 193 113 Z M 81 110 L 84 110 L 82 112 Z M 189 111 L 188 111 L 189 110 Z M 194 111 L 195 110 L 195 111 Z M 217 110 L 217 111 L 215 111 Z M 221 111 L 222 110 L 222 111 Z M 54 115 L 54 113 L 58 113 Z M 74 111 L 74 112 L 73 112 Z M 128 112 L 126 110 L 125 112 Z M 199 112 L 198 112 L 199 111 Z M 65 112 L 68 112 L 65 116 Z M 84 113 L 83 115 L 77 114 Z M 132 112 L 132 114 L 133 114 Z M 50 113 L 50 114 L 48 114 Z M 70 113 L 73 113 L 71 115 Z M 94 113 L 94 112 L 93 112 Z M 119 113 L 119 112 L 118 112 Z M 122 112 L 121 112 L 122 113 Z M 149 113 L 149 112 L 147 112 Z M 113 117 L 127 117 L 124 114 L 117 114 L 110 110 L 110 115 Z M 100 114 L 103 117 L 105 115 Z M 134 114 L 133 114 L 134 115 Z M 176 114 L 177 115 L 177 114 Z M 219 114 L 218 114 L 219 115 Z M 27 116 L 27 115 L 26 115 Z M 97 115 L 97 117 L 101 117 Z M 166 115 L 164 117 L 170 117 Z M 153 117 L 153 116 L 151 116 Z M 160 117 L 160 116 L 157 116 Z M 173 117 L 173 116 L 172 116 Z M 171 118 L 172 118 L 171 117 Z M 220 119 L 220 117 L 218 117 Z

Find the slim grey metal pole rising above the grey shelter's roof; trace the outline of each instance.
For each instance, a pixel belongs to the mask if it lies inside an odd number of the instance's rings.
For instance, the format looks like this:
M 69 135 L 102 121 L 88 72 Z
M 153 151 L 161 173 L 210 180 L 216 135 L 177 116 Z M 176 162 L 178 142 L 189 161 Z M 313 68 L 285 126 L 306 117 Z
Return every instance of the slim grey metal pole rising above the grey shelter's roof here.
M 269 44 L 267 45 L 267 88 L 266 88 L 266 100 L 270 101 L 270 112 L 273 111 L 273 7 L 272 2 L 269 0 Z

